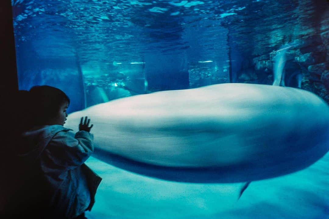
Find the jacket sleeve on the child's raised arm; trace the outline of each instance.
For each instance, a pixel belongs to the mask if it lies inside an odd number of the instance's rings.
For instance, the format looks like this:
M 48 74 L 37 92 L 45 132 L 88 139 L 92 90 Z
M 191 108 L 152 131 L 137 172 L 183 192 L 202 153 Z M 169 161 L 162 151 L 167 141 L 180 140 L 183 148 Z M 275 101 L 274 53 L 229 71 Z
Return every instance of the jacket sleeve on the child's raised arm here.
M 61 131 L 46 146 L 42 163 L 50 169 L 67 171 L 85 163 L 93 151 L 93 135 L 89 132 L 79 131 L 73 136 Z

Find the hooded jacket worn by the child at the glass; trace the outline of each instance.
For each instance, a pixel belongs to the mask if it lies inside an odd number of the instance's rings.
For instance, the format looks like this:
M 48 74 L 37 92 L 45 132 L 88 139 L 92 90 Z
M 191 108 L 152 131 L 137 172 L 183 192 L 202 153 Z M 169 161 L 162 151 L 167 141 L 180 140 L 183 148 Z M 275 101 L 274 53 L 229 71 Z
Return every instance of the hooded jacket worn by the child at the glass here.
M 30 191 L 25 209 L 40 206 L 47 218 L 74 218 L 91 210 L 101 181 L 84 164 L 94 150 L 93 135 L 70 131 L 47 125 L 23 133 L 18 157 L 25 173 L 21 187 Z

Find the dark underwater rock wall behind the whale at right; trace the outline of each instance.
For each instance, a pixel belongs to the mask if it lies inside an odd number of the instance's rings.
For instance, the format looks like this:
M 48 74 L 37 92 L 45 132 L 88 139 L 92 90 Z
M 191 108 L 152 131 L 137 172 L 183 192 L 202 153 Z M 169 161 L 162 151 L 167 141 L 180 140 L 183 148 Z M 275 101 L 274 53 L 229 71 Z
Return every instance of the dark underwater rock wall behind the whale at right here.
M 282 85 L 301 86 L 329 103 L 329 29 L 320 34 L 295 39 L 290 45 L 291 48 L 286 51 Z M 238 73 L 238 82 L 272 84 L 276 55 L 277 51 L 274 51 L 244 59 Z

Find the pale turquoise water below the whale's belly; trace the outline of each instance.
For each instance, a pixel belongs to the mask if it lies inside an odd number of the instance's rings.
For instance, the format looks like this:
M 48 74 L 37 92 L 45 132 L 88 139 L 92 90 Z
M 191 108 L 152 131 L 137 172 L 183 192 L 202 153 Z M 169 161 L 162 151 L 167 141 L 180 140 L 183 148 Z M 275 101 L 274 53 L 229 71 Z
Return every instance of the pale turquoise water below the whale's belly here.
M 242 183 L 189 184 L 143 177 L 89 158 L 103 181 L 89 218 L 328 218 L 329 156 L 283 177 Z

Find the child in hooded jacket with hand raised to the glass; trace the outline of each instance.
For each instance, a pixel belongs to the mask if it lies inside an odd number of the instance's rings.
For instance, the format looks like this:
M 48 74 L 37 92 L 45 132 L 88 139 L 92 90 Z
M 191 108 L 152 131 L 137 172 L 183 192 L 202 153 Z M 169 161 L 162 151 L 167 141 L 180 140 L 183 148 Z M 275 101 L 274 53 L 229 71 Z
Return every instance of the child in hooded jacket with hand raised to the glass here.
M 29 96 L 30 127 L 17 145 L 19 188 L 8 209 L 24 218 L 85 218 L 101 181 L 84 164 L 94 150 L 93 125 L 81 118 L 75 135 L 63 127 L 70 99 L 60 89 L 36 86 Z

